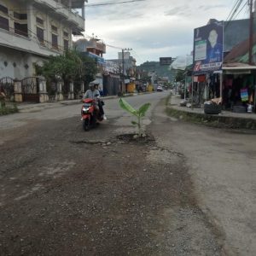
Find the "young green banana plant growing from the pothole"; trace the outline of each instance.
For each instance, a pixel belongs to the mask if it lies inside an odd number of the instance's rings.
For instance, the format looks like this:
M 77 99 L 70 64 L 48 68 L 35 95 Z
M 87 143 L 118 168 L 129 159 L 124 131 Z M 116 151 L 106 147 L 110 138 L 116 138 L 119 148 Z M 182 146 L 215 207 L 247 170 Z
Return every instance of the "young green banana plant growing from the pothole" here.
M 124 99 L 122 99 L 122 98 L 119 99 L 119 106 L 121 108 L 125 109 L 125 111 L 127 111 L 128 113 L 131 113 L 132 115 L 137 117 L 137 121 L 131 121 L 131 124 L 132 125 L 137 125 L 138 137 L 143 136 L 143 129 L 142 129 L 143 117 L 145 116 L 145 114 L 146 114 L 148 108 L 150 107 L 150 105 L 151 105 L 150 103 L 145 103 L 139 109 L 135 109 L 128 102 L 126 102 Z

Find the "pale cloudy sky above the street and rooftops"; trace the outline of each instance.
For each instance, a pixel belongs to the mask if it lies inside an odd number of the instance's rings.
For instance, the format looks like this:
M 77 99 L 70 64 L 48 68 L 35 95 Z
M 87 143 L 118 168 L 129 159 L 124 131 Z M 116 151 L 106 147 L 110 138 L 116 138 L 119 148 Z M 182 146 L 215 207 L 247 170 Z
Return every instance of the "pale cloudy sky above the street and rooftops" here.
M 133 49 L 131 55 L 137 59 L 137 65 L 144 61 L 159 61 L 160 57 L 190 54 L 194 28 L 207 25 L 211 18 L 227 20 L 237 2 L 145 0 L 93 6 L 123 1 L 127 0 L 88 0 L 85 8 L 85 37 L 94 34 L 107 44 L 107 54 L 104 55 L 107 60 L 118 58 L 121 48 Z M 247 10 L 246 4 L 236 19 L 247 18 Z

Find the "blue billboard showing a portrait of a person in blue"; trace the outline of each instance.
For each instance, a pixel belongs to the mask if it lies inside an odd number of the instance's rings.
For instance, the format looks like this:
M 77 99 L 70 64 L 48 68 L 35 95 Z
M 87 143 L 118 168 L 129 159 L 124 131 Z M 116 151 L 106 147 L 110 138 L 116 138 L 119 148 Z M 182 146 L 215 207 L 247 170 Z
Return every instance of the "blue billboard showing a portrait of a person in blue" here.
M 194 30 L 194 74 L 221 70 L 223 62 L 223 21 Z

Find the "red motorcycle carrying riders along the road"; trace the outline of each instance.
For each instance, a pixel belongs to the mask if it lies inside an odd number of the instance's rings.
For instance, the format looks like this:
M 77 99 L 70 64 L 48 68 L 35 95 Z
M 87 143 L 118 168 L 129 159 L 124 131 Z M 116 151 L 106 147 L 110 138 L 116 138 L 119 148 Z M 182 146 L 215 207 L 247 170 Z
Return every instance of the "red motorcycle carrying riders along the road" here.
M 89 131 L 96 127 L 103 120 L 103 116 L 97 106 L 95 99 L 83 99 L 83 106 L 81 109 L 81 120 L 83 122 L 84 131 Z

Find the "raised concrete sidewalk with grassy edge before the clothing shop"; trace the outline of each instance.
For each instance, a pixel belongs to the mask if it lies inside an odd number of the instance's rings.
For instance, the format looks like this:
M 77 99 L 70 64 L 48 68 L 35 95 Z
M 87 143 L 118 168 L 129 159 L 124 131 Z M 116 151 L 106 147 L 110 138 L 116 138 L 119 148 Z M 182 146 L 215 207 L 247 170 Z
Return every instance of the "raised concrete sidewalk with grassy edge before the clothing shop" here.
M 173 95 L 167 105 L 167 112 L 177 118 L 195 120 L 209 125 L 227 128 L 252 129 L 256 130 L 255 113 L 234 113 L 222 110 L 218 114 L 206 114 L 203 108 L 181 107 L 180 96 Z

